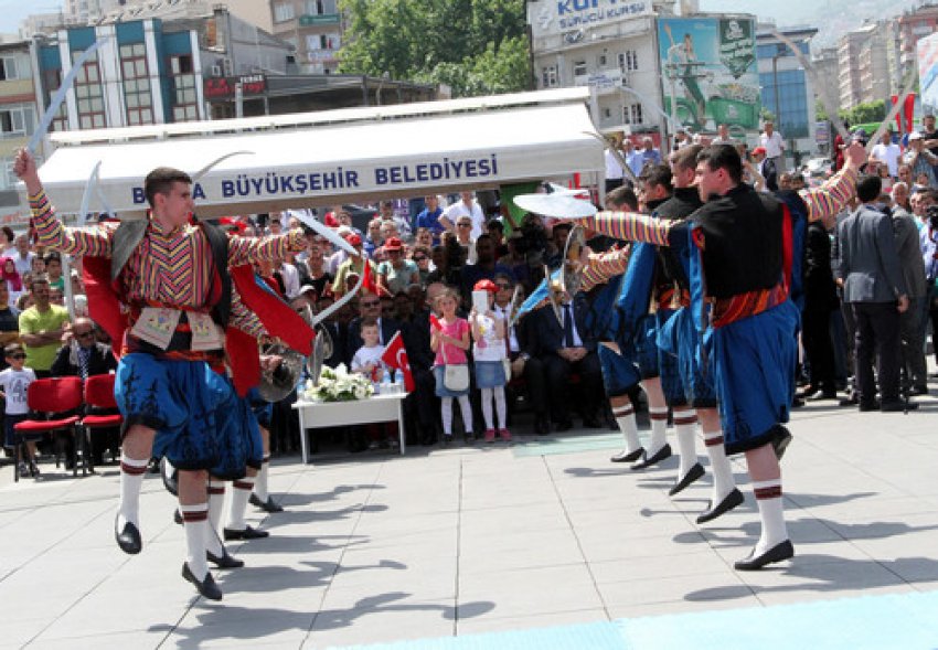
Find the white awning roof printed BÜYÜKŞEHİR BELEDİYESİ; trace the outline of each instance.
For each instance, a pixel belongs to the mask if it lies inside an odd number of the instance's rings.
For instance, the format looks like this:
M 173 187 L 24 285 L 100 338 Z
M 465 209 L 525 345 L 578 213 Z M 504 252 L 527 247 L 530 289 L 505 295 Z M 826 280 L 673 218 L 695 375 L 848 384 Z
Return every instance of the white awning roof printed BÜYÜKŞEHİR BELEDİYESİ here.
M 603 146 L 595 132 L 580 89 L 525 93 L 61 134 L 40 177 L 60 212 L 78 212 L 100 161 L 99 190 L 114 211 L 129 216 L 146 207 L 143 178 L 153 168 L 194 174 L 239 152 L 194 188 L 196 212 L 217 216 L 598 172 Z M 103 210 L 100 201 L 93 200 L 90 210 Z

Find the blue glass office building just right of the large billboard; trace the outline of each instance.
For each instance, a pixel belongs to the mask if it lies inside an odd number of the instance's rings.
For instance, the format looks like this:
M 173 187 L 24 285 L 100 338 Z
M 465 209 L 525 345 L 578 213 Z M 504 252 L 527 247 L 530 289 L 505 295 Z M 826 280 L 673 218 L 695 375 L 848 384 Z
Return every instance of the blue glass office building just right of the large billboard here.
M 810 61 L 811 39 L 818 30 L 781 29 L 778 33 L 793 42 Z M 756 53 L 764 114 L 771 114 L 775 118 L 775 128 L 786 139 L 789 154 L 800 157 L 817 152 L 817 108 L 811 76 L 791 47 L 779 40 L 772 30 L 760 30 Z

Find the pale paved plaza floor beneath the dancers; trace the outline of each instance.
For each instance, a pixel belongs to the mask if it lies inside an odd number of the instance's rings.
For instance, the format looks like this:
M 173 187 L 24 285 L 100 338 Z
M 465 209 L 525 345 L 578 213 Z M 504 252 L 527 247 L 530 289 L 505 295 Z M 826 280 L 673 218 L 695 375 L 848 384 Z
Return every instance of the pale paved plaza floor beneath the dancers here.
M 797 556 L 756 573 L 732 568 L 758 535 L 740 459 L 746 503 L 697 526 L 710 477 L 669 498 L 676 458 L 614 465 L 608 430 L 276 459 L 287 511 L 252 512 L 271 535 L 230 546 L 247 566 L 215 572 L 218 604 L 180 577 L 158 477 L 131 557 L 114 543 L 116 467 L 17 484 L 4 467 L 0 648 L 935 648 L 938 399 L 919 402 L 796 412 Z

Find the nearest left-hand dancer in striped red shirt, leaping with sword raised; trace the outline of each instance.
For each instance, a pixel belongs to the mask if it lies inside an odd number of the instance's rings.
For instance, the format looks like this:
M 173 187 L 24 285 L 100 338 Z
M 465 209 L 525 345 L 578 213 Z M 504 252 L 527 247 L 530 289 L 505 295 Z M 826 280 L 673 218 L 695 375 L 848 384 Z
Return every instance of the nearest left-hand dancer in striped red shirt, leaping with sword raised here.
M 206 470 L 228 466 L 243 471 L 243 459 L 225 456 L 216 414 L 236 403 L 231 385 L 207 361 L 223 347 L 231 280 L 228 268 L 301 251 L 302 232 L 254 239 L 225 237 L 218 228 L 192 225 L 191 178 L 179 170 L 154 169 L 145 181 L 148 219 L 66 228 L 55 217 L 32 156 L 20 151 L 14 172 L 29 192 L 38 244 L 85 256 L 105 278 L 89 288 L 92 317 L 122 342 L 115 396 L 125 418 L 120 503 L 115 518 L 118 546 L 139 553 L 139 496 L 148 460 L 166 456 L 180 469 L 180 510 L 185 520 L 188 556 L 183 577 L 210 599 L 222 592 L 209 573 L 205 553 Z M 106 269 L 106 270 L 105 270 Z M 108 294 L 108 289 L 113 289 Z M 107 309 L 104 303 L 107 302 Z M 121 315 L 119 303 L 129 313 Z M 108 311 L 109 313 L 100 313 Z M 241 462 L 241 468 L 235 469 Z

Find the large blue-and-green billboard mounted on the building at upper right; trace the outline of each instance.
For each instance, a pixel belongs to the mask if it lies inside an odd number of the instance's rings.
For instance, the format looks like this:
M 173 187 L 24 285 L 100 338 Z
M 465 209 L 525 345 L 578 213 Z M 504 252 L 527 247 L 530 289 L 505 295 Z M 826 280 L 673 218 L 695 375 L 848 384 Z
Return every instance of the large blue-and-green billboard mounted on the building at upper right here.
M 660 18 L 664 111 L 695 131 L 759 128 L 754 18 Z

